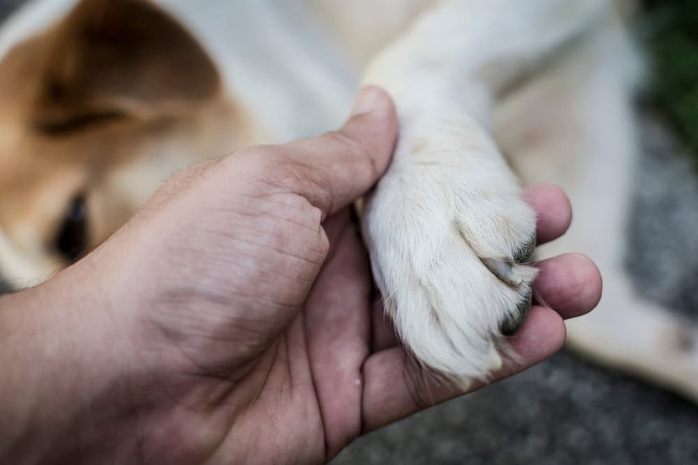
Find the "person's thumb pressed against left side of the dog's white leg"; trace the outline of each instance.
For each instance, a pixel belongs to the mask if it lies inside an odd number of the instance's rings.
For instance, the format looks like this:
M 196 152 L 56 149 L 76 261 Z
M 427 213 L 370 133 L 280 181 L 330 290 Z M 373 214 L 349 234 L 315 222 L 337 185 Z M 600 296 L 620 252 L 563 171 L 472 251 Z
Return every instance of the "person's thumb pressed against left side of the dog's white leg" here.
M 281 165 L 295 176 L 292 189 L 327 218 L 368 191 L 388 166 L 397 136 L 388 94 L 369 86 L 359 93 L 339 130 L 279 146 Z

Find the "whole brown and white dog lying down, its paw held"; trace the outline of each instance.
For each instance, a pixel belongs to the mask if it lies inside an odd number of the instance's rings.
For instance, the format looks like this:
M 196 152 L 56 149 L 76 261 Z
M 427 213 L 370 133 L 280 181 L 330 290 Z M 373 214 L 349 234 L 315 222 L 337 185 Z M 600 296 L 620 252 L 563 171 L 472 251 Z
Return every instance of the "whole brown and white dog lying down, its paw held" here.
M 572 199 L 570 233 L 539 253 L 577 250 L 602 268 L 604 300 L 568 325 L 570 344 L 698 399 L 685 343 L 698 332 L 639 300 L 623 272 L 641 65 L 616 4 L 154 3 L 39 0 L 0 30 L 4 280 L 70 264 L 181 167 L 338 126 L 359 83 L 378 84 L 401 136 L 364 234 L 419 360 L 486 376 L 494 333 L 528 298 L 535 271 L 514 257 L 535 218 L 501 151 L 524 182 Z

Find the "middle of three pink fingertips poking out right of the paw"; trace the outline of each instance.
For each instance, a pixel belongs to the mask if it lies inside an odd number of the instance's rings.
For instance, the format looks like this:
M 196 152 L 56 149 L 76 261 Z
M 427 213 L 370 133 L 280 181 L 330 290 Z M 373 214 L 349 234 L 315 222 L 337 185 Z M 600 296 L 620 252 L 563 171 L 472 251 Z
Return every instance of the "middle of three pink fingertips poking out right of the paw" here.
M 554 308 L 563 318 L 591 312 L 601 299 L 601 273 L 582 254 L 564 254 L 538 263 L 535 282 L 538 302 Z

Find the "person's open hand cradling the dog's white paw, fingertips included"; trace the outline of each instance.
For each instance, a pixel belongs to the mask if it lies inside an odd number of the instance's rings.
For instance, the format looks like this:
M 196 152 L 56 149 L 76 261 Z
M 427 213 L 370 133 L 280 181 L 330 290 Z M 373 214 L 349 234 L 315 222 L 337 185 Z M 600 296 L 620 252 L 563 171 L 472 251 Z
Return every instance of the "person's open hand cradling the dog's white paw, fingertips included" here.
M 52 367 L 30 376 L 53 389 L 20 402 L 40 414 L 20 421 L 18 443 L 70 462 L 317 463 L 462 393 L 410 363 L 371 302 L 348 205 L 387 166 L 396 116 L 384 93 L 363 96 L 339 132 L 181 172 L 86 259 L 0 300 L 57 308 Z M 559 190 L 531 188 L 528 199 L 541 241 L 565 231 Z M 537 294 L 555 310 L 533 307 L 510 338 L 519 358 L 496 379 L 557 351 L 563 318 L 599 298 L 588 259 L 539 266 Z M 27 314 L 17 328 L 41 318 Z M 27 357 L 38 344 L 24 335 Z

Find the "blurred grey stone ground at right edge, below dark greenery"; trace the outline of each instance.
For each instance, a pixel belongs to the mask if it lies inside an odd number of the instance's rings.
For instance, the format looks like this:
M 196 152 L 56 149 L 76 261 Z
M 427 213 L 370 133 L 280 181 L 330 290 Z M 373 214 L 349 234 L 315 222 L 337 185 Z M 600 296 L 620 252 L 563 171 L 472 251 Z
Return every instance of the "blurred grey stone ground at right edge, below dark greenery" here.
M 698 158 L 657 119 L 642 133 L 626 264 L 639 294 L 698 319 Z

